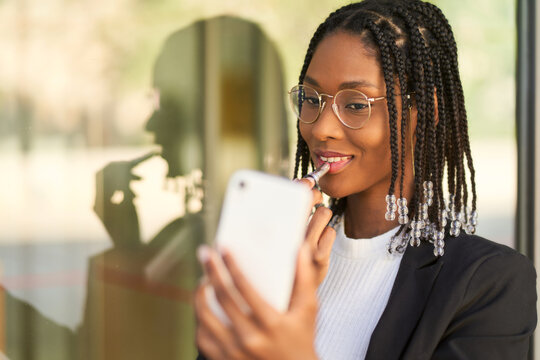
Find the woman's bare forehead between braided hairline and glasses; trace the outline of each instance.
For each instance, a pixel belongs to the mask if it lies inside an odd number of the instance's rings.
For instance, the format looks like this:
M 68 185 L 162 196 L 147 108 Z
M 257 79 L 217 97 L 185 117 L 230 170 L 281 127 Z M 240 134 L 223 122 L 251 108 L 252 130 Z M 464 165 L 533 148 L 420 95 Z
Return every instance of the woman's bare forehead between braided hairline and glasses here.
M 357 82 L 363 90 L 384 89 L 384 77 L 376 57 L 366 50 L 359 35 L 337 32 L 317 46 L 306 72 L 306 83 L 315 80 L 321 90 L 336 92 L 343 84 Z M 362 85 L 363 84 L 363 85 Z

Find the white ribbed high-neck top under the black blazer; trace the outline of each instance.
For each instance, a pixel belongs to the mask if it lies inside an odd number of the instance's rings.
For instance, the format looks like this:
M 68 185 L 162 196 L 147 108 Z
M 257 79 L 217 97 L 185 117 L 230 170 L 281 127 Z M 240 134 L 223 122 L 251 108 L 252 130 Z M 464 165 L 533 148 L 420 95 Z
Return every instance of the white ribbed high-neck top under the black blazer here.
M 402 254 L 387 251 L 396 227 L 371 239 L 351 239 L 336 227 L 326 278 L 319 286 L 315 349 L 321 360 L 364 359 L 396 279 Z

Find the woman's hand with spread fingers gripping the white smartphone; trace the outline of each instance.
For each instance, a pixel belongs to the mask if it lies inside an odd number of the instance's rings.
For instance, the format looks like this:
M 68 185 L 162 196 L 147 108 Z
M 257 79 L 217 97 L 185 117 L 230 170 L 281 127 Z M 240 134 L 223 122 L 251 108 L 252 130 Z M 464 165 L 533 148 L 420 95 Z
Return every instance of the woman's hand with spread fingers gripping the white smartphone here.
M 223 262 L 232 283 L 220 271 L 216 251 L 203 247 L 200 256 L 207 281 L 197 289 L 195 311 L 198 321 L 197 346 L 209 359 L 317 359 L 314 350 L 317 316 L 317 284 L 310 249 L 301 247 L 298 254 L 295 284 L 286 313 L 270 306 L 239 270 L 232 256 L 225 252 Z M 231 321 L 226 326 L 214 315 L 206 302 L 207 285 Z M 249 311 L 235 300 L 241 296 Z

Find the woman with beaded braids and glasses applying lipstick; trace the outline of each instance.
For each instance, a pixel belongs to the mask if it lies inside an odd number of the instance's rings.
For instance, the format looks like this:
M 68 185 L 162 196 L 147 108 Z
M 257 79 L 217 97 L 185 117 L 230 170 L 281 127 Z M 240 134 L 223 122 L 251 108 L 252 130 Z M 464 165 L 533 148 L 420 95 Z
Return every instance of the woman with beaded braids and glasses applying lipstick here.
M 330 162 L 320 188 L 331 211 L 318 207 L 312 217 L 285 314 L 265 304 L 224 254 L 252 310 L 243 313 L 216 267 L 219 255 L 200 251 L 232 322 L 224 326 L 212 315 L 202 285 L 201 353 L 526 358 L 536 275 L 524 256 L 472 235 L 474 167 L 456 44 L 441 11 L 418 0 L 366 0 L 337 10 L 315 32 L 299 84 L 290 91 L 299 119 L 295 176 Z M 326 226 L 332 213 L 335 241 Z

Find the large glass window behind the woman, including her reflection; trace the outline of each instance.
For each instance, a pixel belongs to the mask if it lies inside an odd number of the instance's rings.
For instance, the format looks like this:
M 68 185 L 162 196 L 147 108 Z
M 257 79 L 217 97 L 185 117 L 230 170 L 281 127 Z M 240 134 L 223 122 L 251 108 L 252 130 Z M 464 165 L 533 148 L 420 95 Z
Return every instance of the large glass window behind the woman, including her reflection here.
M 290 174 L 286 90 L 348 2 L 0 2 L 7 358 L 195 357 L 195 248 L 232 171 Z M 515 2 L 435 3 L 459 46 L 478 233 L 513 246 Z

